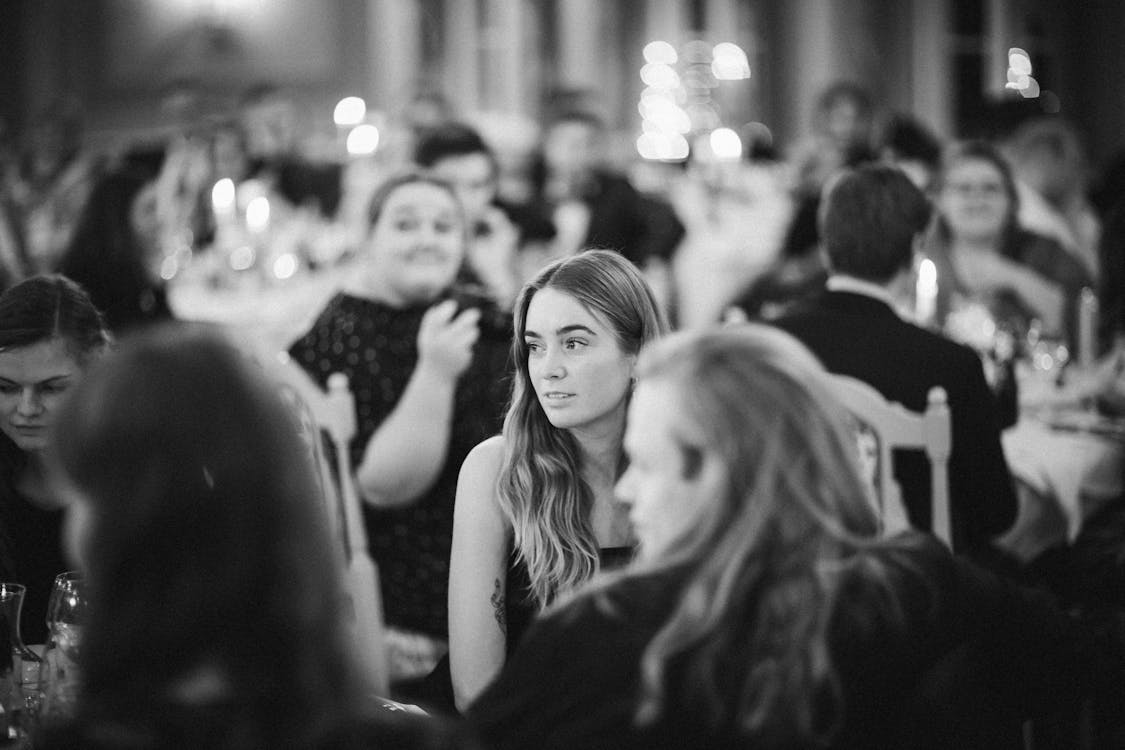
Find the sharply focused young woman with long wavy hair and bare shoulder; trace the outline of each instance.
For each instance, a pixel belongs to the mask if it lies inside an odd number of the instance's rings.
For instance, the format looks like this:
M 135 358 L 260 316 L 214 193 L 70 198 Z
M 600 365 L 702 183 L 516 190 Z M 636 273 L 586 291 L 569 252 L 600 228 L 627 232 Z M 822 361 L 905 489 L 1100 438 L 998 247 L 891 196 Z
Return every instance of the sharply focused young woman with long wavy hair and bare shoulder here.
M 667 328 L 641 272 L 591 250 L 547 265 L 515 305 L 501 435 L 466 459 L 450 563 L 450 665 L 464 707 L 532 615 L 629 554 L 613 500 L 642 345 Z

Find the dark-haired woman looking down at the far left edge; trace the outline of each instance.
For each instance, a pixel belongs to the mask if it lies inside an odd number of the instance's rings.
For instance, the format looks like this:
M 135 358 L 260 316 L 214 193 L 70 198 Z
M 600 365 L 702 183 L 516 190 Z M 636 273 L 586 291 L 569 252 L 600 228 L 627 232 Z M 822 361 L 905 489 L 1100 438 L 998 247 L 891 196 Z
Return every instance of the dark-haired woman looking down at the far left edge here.
M 66 570 L 47 434 L 63 397 L 108 347 L 104 318 L 70 279 L 32 277 L 0 296 L 0 576 L 27 587 L 27 643 L 46 640 L 51 585 Z

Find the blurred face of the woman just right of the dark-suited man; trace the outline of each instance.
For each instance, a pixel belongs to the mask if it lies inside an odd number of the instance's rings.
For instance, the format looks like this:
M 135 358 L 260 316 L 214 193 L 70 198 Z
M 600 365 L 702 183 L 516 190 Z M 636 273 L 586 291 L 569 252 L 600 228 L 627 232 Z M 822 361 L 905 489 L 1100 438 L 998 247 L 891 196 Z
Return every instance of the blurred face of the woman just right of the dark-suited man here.
M 1008 222 L 1011 199 L 994 164 L 965 159 L 947 170 L 938 208 L 954 237 L 994 241 Z

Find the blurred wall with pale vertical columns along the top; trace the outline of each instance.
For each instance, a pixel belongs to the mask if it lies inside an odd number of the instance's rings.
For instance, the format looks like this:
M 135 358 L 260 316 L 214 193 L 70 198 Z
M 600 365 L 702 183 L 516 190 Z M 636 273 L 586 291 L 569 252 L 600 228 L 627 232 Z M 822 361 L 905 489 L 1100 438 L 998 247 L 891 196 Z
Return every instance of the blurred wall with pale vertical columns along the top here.
M 1002 8 L 1007 26 L 955 38 L 951 13 L 966 7 Z M 639 128 L 644 44 L 703 37 L 748 51 L 753 78 L 717 97 L 781 144 L 809 132 L 817 93 L 839 78 L 956 135 L 958 112 L 978 111 L 962 107 L 957 51 L 987 47 L 982 74 L 1002 91 L 996 49 L 1027 46 L 1099 160 L 1125 147 L 1123 28 L 1119 0 L 0 0 L 0 116 L 21 128 L 72 93 L 105 143 L 169 126 L 177 81 L 202 82 L 217 105 L 276 83 L 328 129 L 346 94 L 397 112 L 428 88 L 459 112 L 534 119 L 549 91 L 587 87 L 624 143 Z

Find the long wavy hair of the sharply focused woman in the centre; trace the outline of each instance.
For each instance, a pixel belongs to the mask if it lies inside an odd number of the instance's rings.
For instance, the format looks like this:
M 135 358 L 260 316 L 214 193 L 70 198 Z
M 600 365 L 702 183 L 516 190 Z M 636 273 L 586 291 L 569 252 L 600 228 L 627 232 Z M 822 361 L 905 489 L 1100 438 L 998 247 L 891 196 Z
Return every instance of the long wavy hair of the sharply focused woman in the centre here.
M 513 548 L 531 579 L 539 607 L 588 580 L 598 568 L 591 512 L 593 490 L 582 478 L 575 439 L 547 418 L 528 371 L 528 307 L 542 289 L 576 299 L 609 324 L 622 351 L 634 354 L 667 331 L 644 275 L 608 250 L 588 250 L 550 263 L 521 290 L 515 304 L 512 399 L 504 418 L 504 457 L 497 497 L 513 531 Z

